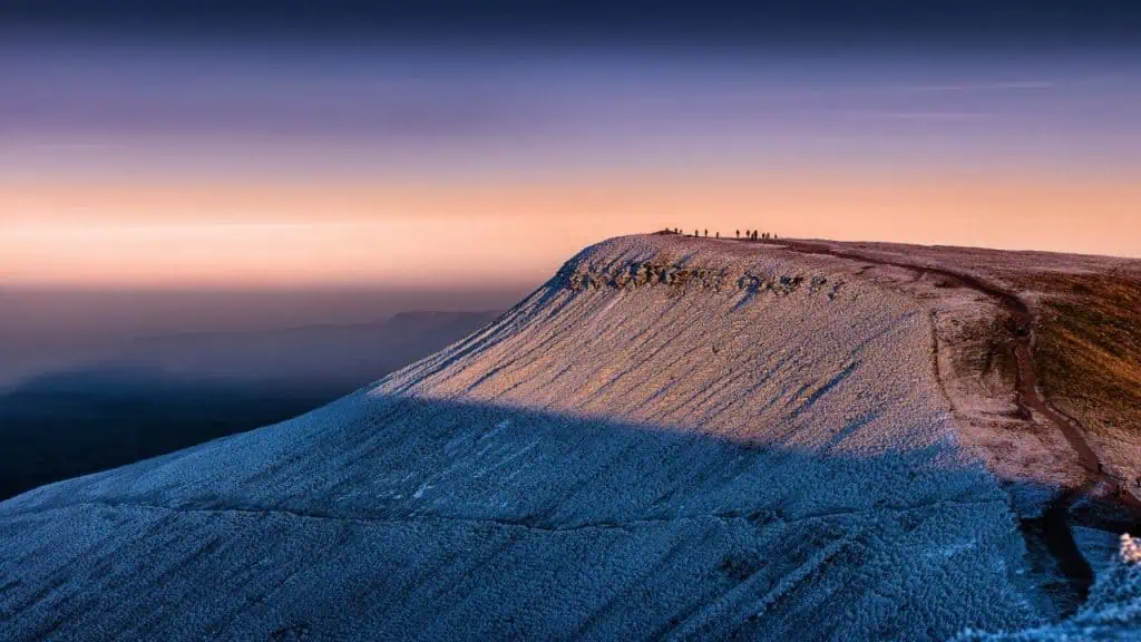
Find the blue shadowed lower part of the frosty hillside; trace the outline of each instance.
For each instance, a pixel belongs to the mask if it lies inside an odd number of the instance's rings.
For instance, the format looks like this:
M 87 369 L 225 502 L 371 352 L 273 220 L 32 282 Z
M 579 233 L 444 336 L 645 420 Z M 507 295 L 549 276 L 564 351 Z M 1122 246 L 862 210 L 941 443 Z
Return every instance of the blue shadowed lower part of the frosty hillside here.
M 1022 581 L 994 571 L 996 560 L 1019 554 L 1003 523 L 1003 492 L 981 470 L 948 460 L 942 447 L 875 456 L 845 449 L 868 430 L 883 426 L 859 417 L 818 447 L 750 443 L 362 391 L 290 422 L 9 503 L 13 517 L 39 514 L 3 524 L 13 549 L 27 541 L 67 560 L 67 547 L 80 541 L 95 552 L 128 546 L 145 563 L 96 564 L 91 576 L 38 568 L 23 575 L 18 593 L 0 595 L 0 605 L 18 613 L 23 592 L 52 583 L 129 591 L 123 608 L 136 612 L 157 612 L 160 600 L 194 604 L 132 633 L 192 636 L 200 623 L 215 621 L 203 611 L 219 608 L 211 604 L 253 600 L 234 569 L 257 567 L 305 581 L 283 584 L 274 619 L 251 612 L 233 625 L 249 627 L 228 632 L 234 637 L 264 639 L 273 629 L 258 627 L 283 626 L 273 624 L 283 613 L 285 625 L 301 623 L 315 639 L 362 629 L 394 637 L 622 637 L 630 633 L 624 605 L 640 604 L 642 634 L 654 639 L 727 629 L 785 636 L 806 626 L 819 637 L 874 626 L 860 631 L 945 639 L 1008 612 L 988 597 L 1005 581 Z M 96 506 L 67 519 L 42 512 L 88 504 Z M 89 520 L 113 520 L 105 536 L 112 539 L 80 537 L 103 532 Z M 177 530 L 177 540 L 156 538 L 154 520 Z M 148 554 L 153 541 L 169 548 Z M 346 567 L 347 554 L 362 562 Z M 1034 581 L 1073 610 L 1074 580 L 1054 577 L 1049 559 L 1035 563 Z M 178 583 L 163 592 L 132 588 L 156 573 L 195 578 L 184 584 L 211 586 L 227 600 L 184 602 Z M 237 580 L 246 584 L 227 584 Z M 973 588 L 934 599 L 928 584 Z M 653 600 L 642 597 L 647 591 Z M 822 596 L 850 608 L 796 607 Z M 876 611 L 879 601 L 891 612 Z M 936 603 L 938 613 L 930 610 Z M 769 615 L 750 618 L 758 604 Z M 853 621 L 851 609 L 866 613 L 864 621 Z M 504 623 L 512 624 L 495 628 Z M 67 631 L 55 620 L 21 626 Z

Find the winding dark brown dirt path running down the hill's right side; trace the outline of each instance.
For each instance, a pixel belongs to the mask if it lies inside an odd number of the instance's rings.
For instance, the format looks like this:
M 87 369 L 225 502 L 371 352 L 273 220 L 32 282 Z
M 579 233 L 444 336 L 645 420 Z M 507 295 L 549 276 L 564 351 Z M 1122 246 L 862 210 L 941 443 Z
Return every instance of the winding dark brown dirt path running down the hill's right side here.
M 766 242 L 766 241 L 761 241 Z M 1031 352 L 1034 314 L 1029 306 L 1012 292 L 1002 290 L 970 274 L 962 274 L 952 270 L 932 267 L 930 265 L 913 264 L 906 260 L 891 260 L 877 256 L 868 256 L 857 251 L 841 250 L 825 243 L 811 241 L 772 240 L 769 244 L 777 244 L 791 251 L 800 254 L 823 254 L 837 258 L 847 258 L 875 265 L 885 265 L 909 270 L 916 273 L 916 278 L 923 274 L 936 274 L 952 281 L 954 284 L 976 290 L 1000 303 L 1000 305 L 1011 314 L 1014 320 L 1014 355 L 1018 363 L 1015 380 L 1015 403 L 1027 417 L 1030 412 L 1037 414 L 1047 423 L 1061 431 L 1067 443 L 1077 454 L 1082 466 L 1089 473 L 1085 483 L 1076 488 L 1063 489 L 1045 509 L 1041 524 L 1046 547 L 1050 554 L 1057 560 L 1058 567 L 1066 576 L 1071 589 L 1081 601 L 1085 601 L 1093 585 L 1093 570 L 1090 563 L 1082 555 L 1077 543 L 1074 540 L 1071 528 L 1070 506 L 1074 501 L 1087 493 L 1099 482 L 1108 482 L 1116 490 L 1117 480 L 1111 479 L 1102 472 L 1102 464 L 1098 459 L 1097 452 L 1090 447 L 1082 427 L 1066 414 L 1054 409 L 1042 398 L 1037 390 L 1037 376 L 1034 370 L 1034 354 Z M 937 339 L 938 340 L 938 339 Z M 938 359 L 938 358 L 937 358 Z

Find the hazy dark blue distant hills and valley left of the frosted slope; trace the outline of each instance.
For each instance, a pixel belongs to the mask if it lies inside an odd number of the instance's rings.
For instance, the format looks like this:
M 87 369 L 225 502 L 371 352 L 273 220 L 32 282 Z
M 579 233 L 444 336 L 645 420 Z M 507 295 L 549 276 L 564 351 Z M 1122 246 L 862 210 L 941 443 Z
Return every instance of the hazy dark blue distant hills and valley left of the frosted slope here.
M 497 314 L 156 336 L 24 382 L 0 393 L 0 499 L 296 417 Z

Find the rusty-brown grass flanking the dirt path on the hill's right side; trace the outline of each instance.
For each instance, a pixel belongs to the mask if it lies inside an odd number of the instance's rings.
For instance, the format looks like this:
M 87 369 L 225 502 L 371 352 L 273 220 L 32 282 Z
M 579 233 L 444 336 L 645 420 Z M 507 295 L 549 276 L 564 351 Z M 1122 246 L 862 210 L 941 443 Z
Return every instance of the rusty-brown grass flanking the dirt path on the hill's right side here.
M 1034 315 L 1033 364 L 1046 401 L 1075 418 L 1107 466 L 1141 500 L 1141 260 L 985 248 L 836 243 L 872 260 L 969 274 L 1017 296 Z M 1001 356 L 1019 332 L 996 318 L 974 342 L 985 380 L 1006 382 Z M 985 329 L 984 326 L 974 330 Z M 970 338 L 970 337 L 968 337 Z M 974 354 L 974 353 L 971 353 Z M 1009 356 L 1009 355 L 1008 355 Z M 997 367 L 997 368 L 996 368 Z M 995 378 L 997 375 L 998 378 Z M 1001 388 L 998 386 L 995 390 Z

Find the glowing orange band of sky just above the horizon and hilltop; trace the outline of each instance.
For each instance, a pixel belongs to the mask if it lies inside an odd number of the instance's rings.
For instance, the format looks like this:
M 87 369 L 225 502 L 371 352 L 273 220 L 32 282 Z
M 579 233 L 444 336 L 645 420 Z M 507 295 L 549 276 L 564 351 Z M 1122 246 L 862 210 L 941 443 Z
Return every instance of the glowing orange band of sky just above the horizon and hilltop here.
M 731 235 L 1141 257 L 1141 180 L 915 172 L 493 184 L 0 185 L 0 284 L 539 282 L 607 236 Z

